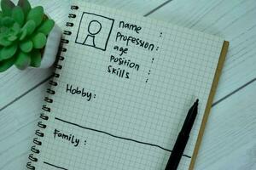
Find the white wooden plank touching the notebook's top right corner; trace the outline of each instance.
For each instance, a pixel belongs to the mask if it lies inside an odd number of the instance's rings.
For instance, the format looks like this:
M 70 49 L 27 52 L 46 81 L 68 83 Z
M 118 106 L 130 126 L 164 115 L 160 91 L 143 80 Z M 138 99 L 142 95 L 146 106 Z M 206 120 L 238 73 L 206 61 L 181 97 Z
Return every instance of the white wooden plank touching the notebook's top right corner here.
M 230 41 L 215 101 L 256 77 L 255 16 L 254 0 L 172 1 L 150 15 Z

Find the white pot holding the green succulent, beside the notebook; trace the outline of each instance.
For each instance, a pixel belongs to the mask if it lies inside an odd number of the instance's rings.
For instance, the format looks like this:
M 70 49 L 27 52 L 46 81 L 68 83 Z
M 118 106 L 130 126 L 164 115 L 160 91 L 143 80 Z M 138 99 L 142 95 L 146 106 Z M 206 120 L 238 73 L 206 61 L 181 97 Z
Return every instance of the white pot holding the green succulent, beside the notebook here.
M 47 37 L 47 42 L 44 47 L 44 54 L 39 68 L 49 68 L 55 63 L 55 59 L 61 42 L 61 35 L 61 28 L 55 25 L 53 29 L 49 32 L 49 35 Z

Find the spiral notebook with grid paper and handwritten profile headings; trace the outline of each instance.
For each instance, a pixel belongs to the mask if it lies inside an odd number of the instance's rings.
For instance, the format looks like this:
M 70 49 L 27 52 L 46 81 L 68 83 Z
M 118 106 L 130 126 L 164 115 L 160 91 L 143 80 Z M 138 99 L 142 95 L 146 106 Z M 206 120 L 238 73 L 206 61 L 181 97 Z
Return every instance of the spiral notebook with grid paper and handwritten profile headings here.
M 178 169 L 192 169 L 228 42 L 74 1 L 28 169 L 165 169 L 194 103 Z

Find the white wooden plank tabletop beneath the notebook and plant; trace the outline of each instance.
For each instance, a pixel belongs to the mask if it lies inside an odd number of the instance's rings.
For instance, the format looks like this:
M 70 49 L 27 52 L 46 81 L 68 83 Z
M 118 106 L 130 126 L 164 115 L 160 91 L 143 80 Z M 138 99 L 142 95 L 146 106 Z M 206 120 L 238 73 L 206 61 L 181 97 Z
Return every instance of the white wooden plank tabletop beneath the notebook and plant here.
M 230 41 L 195 169 L 256 169 L 256 1 L 95 2 Z M 32 3 L 43 5 L 59 26 L 67 19 L 67 0 Z M 50 73 L 13 67 L 0 74 L 0 169 L 25 169 Z

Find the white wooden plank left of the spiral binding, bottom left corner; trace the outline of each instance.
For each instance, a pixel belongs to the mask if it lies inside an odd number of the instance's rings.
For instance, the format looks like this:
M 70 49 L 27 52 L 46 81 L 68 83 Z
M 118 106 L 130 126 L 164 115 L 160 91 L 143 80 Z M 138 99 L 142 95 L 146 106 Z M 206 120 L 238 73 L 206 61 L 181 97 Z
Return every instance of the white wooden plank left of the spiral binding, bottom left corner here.
M 25 169 L 47 83 L 1 112 L 0 169 Z

